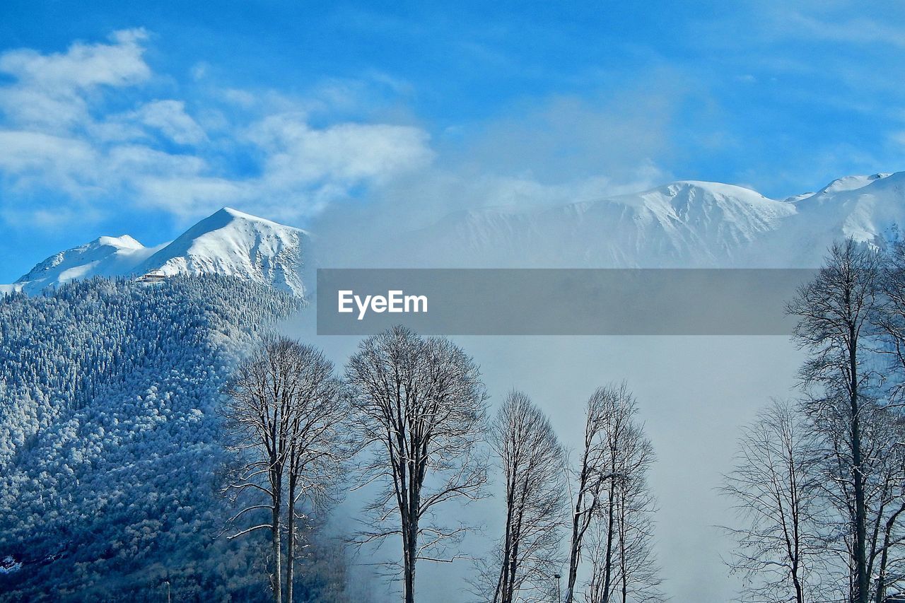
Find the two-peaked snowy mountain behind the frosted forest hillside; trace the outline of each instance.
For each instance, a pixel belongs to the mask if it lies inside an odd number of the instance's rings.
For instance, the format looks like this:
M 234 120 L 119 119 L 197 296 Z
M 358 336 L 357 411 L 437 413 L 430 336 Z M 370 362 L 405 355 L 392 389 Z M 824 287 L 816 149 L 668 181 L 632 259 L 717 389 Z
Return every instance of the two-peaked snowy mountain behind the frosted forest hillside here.
M 91 276 L 225 274 L 305 292 L 299 273 L 308 234 L 224 207 L 169 244 L 145 247 L 129 235 L 101 236 L 54 254 L 0 292 L 35 293 Z

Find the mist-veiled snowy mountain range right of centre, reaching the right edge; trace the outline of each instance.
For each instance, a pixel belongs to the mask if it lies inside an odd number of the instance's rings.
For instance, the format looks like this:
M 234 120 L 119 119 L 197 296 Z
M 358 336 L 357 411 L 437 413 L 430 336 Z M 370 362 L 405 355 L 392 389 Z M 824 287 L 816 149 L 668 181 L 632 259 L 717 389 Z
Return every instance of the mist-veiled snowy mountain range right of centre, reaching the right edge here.
M 812 267 L 835 239 L 881 246 L 893 236 L 905 223 L 903 185 L 905 172 L 844 177 L 778 200 L 681 181 L 531 211 L 459 212 L 414 245 L 444 266 Z

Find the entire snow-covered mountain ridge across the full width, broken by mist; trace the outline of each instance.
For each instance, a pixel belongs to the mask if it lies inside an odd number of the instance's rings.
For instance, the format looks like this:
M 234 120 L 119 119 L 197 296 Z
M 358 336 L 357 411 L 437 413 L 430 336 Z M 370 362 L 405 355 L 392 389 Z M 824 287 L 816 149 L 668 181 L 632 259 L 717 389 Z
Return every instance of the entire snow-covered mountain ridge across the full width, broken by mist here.
M 358 255 L 362 266 L 398 267 L 814 267 L 834 240 L 882 247 L 900 225 L 905 172 L 841 177 L 786 199 L 681 180 L 563 206 L 455 212 Z M 215 273 L 303 295 L 310 240 L 299 228 L 224 207 L 168 244 L 101 236 L 54 254 L 0 293 L 90 276 Z

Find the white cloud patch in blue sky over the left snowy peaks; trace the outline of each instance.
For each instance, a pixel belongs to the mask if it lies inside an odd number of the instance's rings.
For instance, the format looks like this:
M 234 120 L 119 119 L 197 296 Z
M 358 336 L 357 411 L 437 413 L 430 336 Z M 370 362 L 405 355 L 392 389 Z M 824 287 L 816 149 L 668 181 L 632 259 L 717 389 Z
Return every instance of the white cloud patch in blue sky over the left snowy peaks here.
M 156 75 L 145 59 L 148 37 L 120 31 L 65 53 L 0 54 L 0 72 L 12 79 L 0 86 L 5 215 L 27 213 L 14 193 L 34 199 L 52 189 L 68 209 L 81 204 L 91 215 L 125 202 L 193 219 L 238 205 L 300 221 L 433 158 L 427 133 L 413 126 L 312 126 L 319 102 L 339 104 L 336 83 L 313 101 L 214 90 L 195 100 L 196 113 L 186 99 L 157 98 L 146 89 Z M 30 209 L 37 220 L 52 207 Z

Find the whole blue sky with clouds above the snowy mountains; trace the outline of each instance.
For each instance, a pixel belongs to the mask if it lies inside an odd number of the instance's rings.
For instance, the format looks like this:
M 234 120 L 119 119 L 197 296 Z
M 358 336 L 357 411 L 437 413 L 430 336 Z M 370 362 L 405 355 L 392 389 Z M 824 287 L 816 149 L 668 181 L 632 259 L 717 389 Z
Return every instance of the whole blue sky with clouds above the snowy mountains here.
M 783 197 L 905 168 L 905 6 L 0 6 L 0 282 L 220 206 L 413 224 L 672 179 Z

